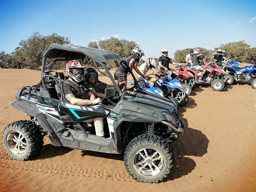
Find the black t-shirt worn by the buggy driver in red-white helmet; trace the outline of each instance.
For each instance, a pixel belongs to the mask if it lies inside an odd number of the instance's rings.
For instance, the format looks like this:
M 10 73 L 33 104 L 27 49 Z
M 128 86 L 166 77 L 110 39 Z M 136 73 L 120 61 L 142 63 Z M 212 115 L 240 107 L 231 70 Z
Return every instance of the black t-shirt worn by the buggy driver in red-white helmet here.
M 71 82 L 68 79 L 66 80 L 66 82 L 63 82 L 63 86 L 61 86 L 63 88 L 65 97 L 66 97 L 66 95 L 73 93 L 76 98 L 90 99 L 90 97 L 88 95 L 90 90 L 86 89 L 82 85 L 77 86 L 76 84 L 74 84 L 73 82 Z

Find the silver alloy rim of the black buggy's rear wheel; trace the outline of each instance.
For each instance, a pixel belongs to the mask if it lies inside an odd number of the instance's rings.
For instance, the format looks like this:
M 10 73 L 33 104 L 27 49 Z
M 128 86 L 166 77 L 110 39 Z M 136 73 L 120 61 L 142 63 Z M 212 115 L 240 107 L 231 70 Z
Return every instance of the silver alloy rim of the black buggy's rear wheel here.
M 27 151 L 27 141 L 19 131 L 12 131 L 7 136 L 7 145 L 12 153 L 22 155 Z

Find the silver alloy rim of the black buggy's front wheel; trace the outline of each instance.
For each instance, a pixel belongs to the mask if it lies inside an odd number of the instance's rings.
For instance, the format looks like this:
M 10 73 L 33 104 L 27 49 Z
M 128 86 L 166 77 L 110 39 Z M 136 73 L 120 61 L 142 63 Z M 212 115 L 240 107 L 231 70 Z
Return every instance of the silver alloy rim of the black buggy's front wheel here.
M 153 177 L 161 173 L 164 158 L 156 149 L 143 148 L 134 155 L 133 166 L 139 174 Z

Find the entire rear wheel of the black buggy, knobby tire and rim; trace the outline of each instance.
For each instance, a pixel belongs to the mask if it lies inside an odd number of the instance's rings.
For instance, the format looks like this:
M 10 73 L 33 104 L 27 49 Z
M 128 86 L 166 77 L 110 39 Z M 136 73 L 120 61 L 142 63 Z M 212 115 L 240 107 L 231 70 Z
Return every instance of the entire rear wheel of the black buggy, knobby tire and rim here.
M 2 144 L 6 154 L 18 161 L 35 157 L 44 144 L 39 127 L 32 121 L 15 121 L 4 128 Z

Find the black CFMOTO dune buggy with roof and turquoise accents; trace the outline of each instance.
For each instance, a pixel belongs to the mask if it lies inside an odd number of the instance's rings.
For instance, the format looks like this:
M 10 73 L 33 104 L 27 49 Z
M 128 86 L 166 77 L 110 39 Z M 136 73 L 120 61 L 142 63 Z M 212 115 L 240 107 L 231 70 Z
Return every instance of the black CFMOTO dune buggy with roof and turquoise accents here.
M 83 61 L 85 57 L 92 59 L 97 70 L 108 76 L 116 88 L 106 88 L 105 96 L 112 99 L 92 107 L 65 102 L 61 86 L 66 77 L 49 72 L 58 61 Z M 47 59 L 51 60 L 46 65 Z M 2 142 L 10 158 L 33 158 L 48 135 L 54 146 L 115 154 L 124 151 L 126 170 L 134 179 L 150 183 L 165 179 L 174 165 L 169 143 L 183 133 L 184 124 L 170 100 L 140 89 L 131 70 L 135 86 L 122 94 L 105 65 L 113 60 L 127 65 L 123 57 L 105 50 L 52 44 L 43 55 L 41 81 L 20 88 L 17 101 L 9 104 L 31 117 L 30 121 L 16 121 L 5 127 Z M 104 118 L 105 137 L 95 135 L 93 123 L 81 122 L 96 117 Z

